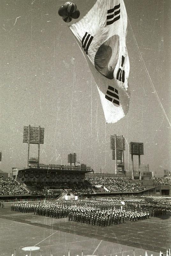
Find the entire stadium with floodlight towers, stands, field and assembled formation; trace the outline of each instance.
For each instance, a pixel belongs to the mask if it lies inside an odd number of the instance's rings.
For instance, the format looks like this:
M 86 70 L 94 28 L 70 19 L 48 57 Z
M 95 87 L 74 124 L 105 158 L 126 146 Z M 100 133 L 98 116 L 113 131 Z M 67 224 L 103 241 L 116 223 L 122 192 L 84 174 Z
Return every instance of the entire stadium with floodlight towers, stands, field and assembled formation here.
M 68 154 L 67 166 L 40 164 L 39 155 L 29 158 L 29 144 L 39 148 L 44 134 L 40 139 L 31 131 L 41 127 L 28 128 L 27 138 L 26 127 L 23 133 L 28 166 L 13 168 L 11 177 L 1 172 L 1 255 L 169 256 L 170 177 L 141 174 L 140 168 L 130 177 L 124 170 L 124 138 L 116 135 L 110 141 L 117 152 L 115 174 L 94 173 L 76 162 L 75 153 Z M 130 142 L 130 148 L 134 145 L 130 153 L 138 152 L 140 161 L 143 143 Z M 6 235 L 10 246 L 5 245 Z

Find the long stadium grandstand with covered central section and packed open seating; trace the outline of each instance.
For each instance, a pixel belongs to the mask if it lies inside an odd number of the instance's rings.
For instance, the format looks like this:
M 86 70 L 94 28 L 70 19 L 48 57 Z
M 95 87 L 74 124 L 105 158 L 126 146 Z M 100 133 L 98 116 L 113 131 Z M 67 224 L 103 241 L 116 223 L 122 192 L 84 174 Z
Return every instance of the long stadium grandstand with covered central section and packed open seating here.
M 72 192 L 78 196 L 113 194 L 170 195 L 171 178 L 130 180 L 125 175 L 93 174 L 90 167 L 40 165 L 18 171 L 16 179 L 0 177 L 1 199 L 18 196 L 56 198 Z M 4 198 L 5 200 L 5 198 Z

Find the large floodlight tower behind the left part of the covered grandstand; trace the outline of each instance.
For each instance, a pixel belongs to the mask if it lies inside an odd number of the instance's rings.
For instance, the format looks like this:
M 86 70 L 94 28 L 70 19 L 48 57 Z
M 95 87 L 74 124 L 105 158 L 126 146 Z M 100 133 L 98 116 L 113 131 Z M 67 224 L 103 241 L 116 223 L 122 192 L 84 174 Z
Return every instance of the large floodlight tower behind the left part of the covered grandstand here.
M 44 128 L 41 128 L 40 126 L 32 127 L 30 124 L 29 126 L 24 126 L 23 142 L 28 143 L 27 167 L 29 167 L 30 163 L 37 164 L 38 167 L 40 158 L 40 144 L 44 143 Z M 30 144 L 38 145 L 38 158 L 29 159 Z

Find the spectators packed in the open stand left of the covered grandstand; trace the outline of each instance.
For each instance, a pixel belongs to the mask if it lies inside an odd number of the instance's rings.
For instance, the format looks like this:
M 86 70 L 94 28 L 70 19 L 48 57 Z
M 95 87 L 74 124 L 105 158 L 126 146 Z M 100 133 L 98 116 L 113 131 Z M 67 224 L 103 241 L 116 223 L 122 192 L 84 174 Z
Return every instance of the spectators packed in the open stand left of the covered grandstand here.
M 16 180 L 0 177 L 0 195 L 28 194 Z

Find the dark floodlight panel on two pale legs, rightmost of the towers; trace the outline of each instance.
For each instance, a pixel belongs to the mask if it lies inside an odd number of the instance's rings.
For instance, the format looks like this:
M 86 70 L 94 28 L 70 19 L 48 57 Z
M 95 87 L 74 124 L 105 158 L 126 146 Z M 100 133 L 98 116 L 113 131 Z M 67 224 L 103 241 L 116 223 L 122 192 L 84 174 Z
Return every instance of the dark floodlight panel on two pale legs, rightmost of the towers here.
M 140 172 L 141 160 L 140 155 L 144 155 L 144 144 L 143 142 L 130 142 L 130 154 L 132 161 L 132 179 L 134 179 L 134 160 L 133 156 L 138 156 L 138 170 Z

